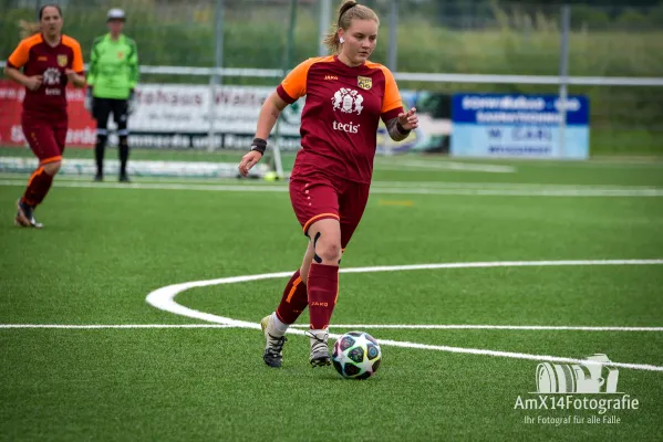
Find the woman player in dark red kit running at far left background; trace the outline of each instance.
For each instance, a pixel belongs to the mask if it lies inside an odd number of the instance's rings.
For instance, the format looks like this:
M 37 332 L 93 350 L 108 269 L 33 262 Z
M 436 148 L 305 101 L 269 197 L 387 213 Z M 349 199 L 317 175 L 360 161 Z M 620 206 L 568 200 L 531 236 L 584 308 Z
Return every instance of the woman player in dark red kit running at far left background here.
M 68 115 L 65 85 L 85 85 L 81 45 L 62 34 L 62 11 L 55 4 L 39 10 L 40 32 L 22 40 L 7 60 L 4 74 L 25 86 L 21 126 L 39 166 L 18 202 L 15 224 L 41 228 L 34 220 L 40 204 L 60 170 Z M 20 70 L 23 69 L 23 72 Z

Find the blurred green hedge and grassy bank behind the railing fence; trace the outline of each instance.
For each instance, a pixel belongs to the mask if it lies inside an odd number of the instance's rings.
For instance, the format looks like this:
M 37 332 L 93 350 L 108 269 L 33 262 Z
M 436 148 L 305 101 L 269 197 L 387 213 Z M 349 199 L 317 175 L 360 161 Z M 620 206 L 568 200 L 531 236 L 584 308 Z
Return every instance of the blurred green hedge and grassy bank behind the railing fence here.
M 145 1 L 143 1 L 145 3 Z M 169 18 L 164 20 L 154 10 L 130 9 L 126 33 L 138 43 L 143 64 L 211 66 L 214 63 L 214 24 L 211 10 L 203 11 L 197 22 Z M 127 7 L 128 9 L 130 7 Z M 228 67 L 281 67 L 287 38 L 287 13 L 269 10 L 253 12 L 251 21 L 229 15 L 225 23 L 224 61 Z M 591 12 L 591 11 L 590 11 Z M 584 15 L 590 13 L 584 10 Z M 84 51 L 93 39 L 105 32 L 105 10 L 71 9 L 65 11 L 65 33 L 77 39 Z M 257 15 L 258 14 L 258 15 Z M 260 17 L 263 14 L 263 17 Z M 441 72 L 472 74 L 557 75 L 560 35 L 555 18 L 535 17 L 527 30 L 514 29 L 514 20 L 496 10 L 500 27 L 488 31 L 454 31 L 433 27 L 427 21 L 403 20 L 398 28 L 400 72 Z M 591 15 L 594 21 L 605 18 Z M 657 17 L 657 15 L 655 15 Z M 32 10 L 10 10 L 0 17 L 0 56 L 9 55 L 19 41 L 17 23 L 33 18 Z M 582 17 L 581 17 L 582 18 Z M 589 21 L 589 19 L 587 19 Z M 625 11 L 615 20 L 640 20 L 634 11 Z M 656 18 L 657 20 L 657 18 Z M 520 20 L 519 22 L 526 22 Z M 260 23 L 256 25 L 256 23 Z M 580 29 L 580 30 L 578 30 Z M 588 76 L 661 76 L 663 72 L 663 31 L 607 32 L 592 31 L 591 25 L 576 27 L 570 36 L 570 74 Z M 386 35 L 373 59 L 386 60 Z M 318 51 L 318 18 L 300 13 L 296 28 L 294 60 L 312 56 Z M 197 82 L 206 77 L 144 76 L 144 82 Z M 235 84 L 274 84 L 276 80 L 225 78 Z M 511 93 L 555 93 L 556 86 L 516 84 L 448 84 L 402 83 L 405 88 L 441 92 L 484 91 Z M 588 94 L 591 99 L 593 129 L 646 133 L 646 146 L 663 130 L 663 87 L 573 87 L 571 93 Z M 624 137 L 602 137 L 604 140 Z M 628 139 L 628 137 L 625 138 Z M 643 141 L 644 143 L 644 141 Z M 615 141 L 617 144 L 617 141 Z M 663 143 L 654 150 L 663 154 Z M 633 149 L 639 149 L 639 146 Z M 609 148 L 610 149 L 610 148 Z

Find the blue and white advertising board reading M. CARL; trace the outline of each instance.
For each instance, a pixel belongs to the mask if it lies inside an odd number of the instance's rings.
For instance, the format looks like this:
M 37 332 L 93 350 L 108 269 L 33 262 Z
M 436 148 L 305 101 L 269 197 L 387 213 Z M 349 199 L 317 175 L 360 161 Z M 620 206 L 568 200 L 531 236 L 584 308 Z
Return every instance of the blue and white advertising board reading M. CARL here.
M 455 94 L 450 154 L 459 157 L 589 157 L 589 99 L 567 98 L 563 151 L 558 95 Z

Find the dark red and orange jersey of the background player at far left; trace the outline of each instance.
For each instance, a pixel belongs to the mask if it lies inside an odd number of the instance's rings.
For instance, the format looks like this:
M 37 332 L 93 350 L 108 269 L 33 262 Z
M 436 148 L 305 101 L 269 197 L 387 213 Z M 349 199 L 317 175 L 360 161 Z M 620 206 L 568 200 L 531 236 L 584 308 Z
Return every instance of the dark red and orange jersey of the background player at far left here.
M 25 91 L 23 110 L 35 118 L 66 119 L 66 75 L 71 69 L 83 74 L 81 45 L 74 39 L 62 35 L 55 46 L 48 44 L 42 34 L 22 40 L 7 60 L 7 65 L 23 69 L 28 76 L 42 75 L 42 84 L 37 91 Z

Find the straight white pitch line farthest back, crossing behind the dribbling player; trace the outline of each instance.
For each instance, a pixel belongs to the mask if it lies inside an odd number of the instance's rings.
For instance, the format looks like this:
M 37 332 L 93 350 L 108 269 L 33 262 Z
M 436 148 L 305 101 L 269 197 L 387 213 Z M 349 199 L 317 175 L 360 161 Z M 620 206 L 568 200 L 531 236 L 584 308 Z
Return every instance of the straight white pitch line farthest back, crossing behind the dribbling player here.
M 0 180 L 0 186 L 24 187 L 24 180 Z M 146 189 L 146 190 L 205 190 L 226 192 L 288 192 L 287 186 L 248 186 L 248 185 L 186 185 L 186 183 L 103 183 L 58 181 L 55 187 L 89 189 Z M 374 187 L 371 193 L 379 194 L 431 194 L 431 196 L 483 196 L 483 197 L 663 197 L 663 189 L 583 189 L 583 188 L 532 188 L 532 189 L 473 189 L 473 188 L 407 188 Z

